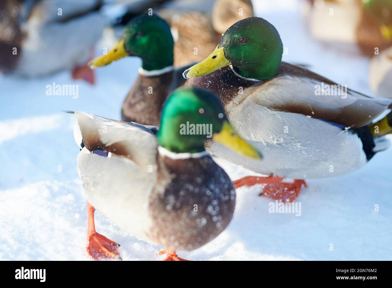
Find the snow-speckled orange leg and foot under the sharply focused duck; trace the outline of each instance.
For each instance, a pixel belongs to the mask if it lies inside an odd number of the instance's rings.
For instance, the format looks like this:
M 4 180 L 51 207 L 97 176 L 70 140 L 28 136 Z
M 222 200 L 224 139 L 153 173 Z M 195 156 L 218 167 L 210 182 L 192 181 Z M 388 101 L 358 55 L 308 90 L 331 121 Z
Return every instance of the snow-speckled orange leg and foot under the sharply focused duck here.
M 265 184 L 260 196 L 272 198 L 282 202 L 293 202 L 299 195 L 302 185 L 307 187 L 305 180 L 295 179 L 293 183 L 283 183 L 281 177 L 246 176 L 233 181 L 236 188 Z

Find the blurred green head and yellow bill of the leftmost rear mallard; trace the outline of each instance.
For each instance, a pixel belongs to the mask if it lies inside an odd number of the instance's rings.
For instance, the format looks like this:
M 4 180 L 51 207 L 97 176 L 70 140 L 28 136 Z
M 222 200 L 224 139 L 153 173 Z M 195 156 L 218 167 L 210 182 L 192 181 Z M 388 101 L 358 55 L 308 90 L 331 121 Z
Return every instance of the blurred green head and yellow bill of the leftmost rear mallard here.
M 121 38 L 102 56 L 91 60 L 91 69 L 105 66 L 125 56 L 142 59 L 142 68 L 159 70 L 173 65 L 174 41 L 165 20 L 149 14 L 138 15 L 125 26 Z

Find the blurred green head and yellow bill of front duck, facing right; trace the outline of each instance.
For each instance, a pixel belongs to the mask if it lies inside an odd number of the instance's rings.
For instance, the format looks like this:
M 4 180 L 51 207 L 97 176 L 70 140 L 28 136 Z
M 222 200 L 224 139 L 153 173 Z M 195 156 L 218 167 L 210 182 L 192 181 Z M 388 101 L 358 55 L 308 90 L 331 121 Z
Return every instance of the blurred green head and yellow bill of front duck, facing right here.
M 214 94 L 198 87 L 175 90 L 162 110 L 159 145 L 171 152 L 196 153 L 205 150 L 209 139 L 243 156 L 261 158 L 232 128 Z

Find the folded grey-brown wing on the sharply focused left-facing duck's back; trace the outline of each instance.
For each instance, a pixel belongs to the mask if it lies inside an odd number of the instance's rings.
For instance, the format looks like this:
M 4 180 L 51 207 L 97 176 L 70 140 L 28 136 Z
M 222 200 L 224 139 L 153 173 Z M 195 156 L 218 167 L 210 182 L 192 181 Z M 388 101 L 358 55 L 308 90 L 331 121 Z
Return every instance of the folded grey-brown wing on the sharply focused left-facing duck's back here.
M 285 62 L 274 78 L 248 89 L 253 101 L 270 110 L 303 114 L 345 127 L 365 126 L 392 108 L 391 99 L 371 98 Z

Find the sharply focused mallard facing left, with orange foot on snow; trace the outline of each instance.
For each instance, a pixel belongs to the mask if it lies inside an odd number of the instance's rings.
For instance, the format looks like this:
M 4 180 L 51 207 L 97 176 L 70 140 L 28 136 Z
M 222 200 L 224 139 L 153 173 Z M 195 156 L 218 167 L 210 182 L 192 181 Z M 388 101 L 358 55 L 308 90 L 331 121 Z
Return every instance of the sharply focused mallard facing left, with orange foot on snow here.
M 216 156 L 270 175 L 250 176 L 234 182 L 236 187 L 273 183 L 267 194 L 293 201 L 304 184 L 299 179 L 347 174 L 385 148 L 385 139 L 377 136 L 392 130 L 391 114 L 372 121 L 392 107 L 392 100 L 370 98 L 281 62 L 282 52 L 275 27 L 250 17 L 227 29 L 212 54 L 184 76 L 185 86 L 214 92 L 238 134 L 263 150 L 263 161 L 257 161 L 219 143 L 208 147 Z M 298 180 L 279 184 L 283 177 Z

